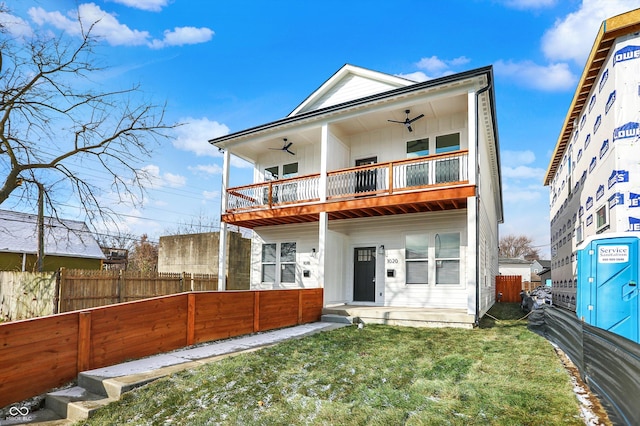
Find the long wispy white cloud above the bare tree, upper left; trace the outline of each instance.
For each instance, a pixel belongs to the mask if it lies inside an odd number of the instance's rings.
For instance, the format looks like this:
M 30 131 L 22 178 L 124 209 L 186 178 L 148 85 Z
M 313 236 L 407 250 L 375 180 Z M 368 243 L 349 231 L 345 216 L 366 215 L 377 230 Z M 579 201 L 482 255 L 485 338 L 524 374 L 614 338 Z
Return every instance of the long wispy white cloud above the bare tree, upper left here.
M 134 2 L 131 1 L 131 3 Z M 137 1 L 135 3 L 138 4 Z M 143 4 L 149 7 L 152 5 L 160 7 L 163 2 L 147 0 Z M 213 30 L 209 28 L 176 27 L 173 30 L 165 30 L 162 40 L 150 41 L 151 35 L 148 31 L 129 28 L 120 23 L 115 15 L 102 10 L 94 3 L 80 4 L 77 10 L 68 11 L 66 16 L 58 11 L 47 12 L 41 7 L 32 7 L 29 9 L 29 16 L 38 25 L 49 24 L 75 36 L 81 35 L 83 31 L 78 22 L 79 16 L 85 26 L 85 32 L 88 29 L 87 26 L 93 24 L 92 34 L 105 40 L 111 46 L 146 45 L 153 49 L 159 49 L 167 46 L 204 43 L 211 40 L 214 35 Z

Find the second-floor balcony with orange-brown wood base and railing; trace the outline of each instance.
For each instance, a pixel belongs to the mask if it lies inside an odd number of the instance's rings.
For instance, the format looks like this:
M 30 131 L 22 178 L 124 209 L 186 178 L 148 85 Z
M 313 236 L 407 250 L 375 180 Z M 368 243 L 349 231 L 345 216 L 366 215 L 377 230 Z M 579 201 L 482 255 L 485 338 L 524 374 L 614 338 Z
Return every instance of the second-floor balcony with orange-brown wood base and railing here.
M 328 172 L 326 201 L 320 187 L 312 174 L 229 188 L 222 220 L 253 228 L 314 222 L 323 211 L 349 219 L 450 210 L 475 195 L 466 150 Z

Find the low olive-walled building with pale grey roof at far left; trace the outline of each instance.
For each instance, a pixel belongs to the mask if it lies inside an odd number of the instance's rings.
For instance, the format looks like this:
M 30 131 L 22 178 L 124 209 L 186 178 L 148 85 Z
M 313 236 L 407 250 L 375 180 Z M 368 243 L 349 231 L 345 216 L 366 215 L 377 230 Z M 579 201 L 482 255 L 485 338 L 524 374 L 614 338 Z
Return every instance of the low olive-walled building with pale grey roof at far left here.
M 0 270 L 34 271 L 38 260 L 36 215 L 0 210 Z M 44 218 L 44 270 L 101 269 L 105 259 L 84 222 Z

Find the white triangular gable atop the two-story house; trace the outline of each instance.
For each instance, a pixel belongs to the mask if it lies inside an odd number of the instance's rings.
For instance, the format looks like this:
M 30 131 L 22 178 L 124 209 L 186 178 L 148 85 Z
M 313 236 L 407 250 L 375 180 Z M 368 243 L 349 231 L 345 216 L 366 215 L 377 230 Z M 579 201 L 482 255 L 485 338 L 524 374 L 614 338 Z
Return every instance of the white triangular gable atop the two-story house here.
M 288 117 L 415 83 L 390 74 L 346 64 L 298 105 Z

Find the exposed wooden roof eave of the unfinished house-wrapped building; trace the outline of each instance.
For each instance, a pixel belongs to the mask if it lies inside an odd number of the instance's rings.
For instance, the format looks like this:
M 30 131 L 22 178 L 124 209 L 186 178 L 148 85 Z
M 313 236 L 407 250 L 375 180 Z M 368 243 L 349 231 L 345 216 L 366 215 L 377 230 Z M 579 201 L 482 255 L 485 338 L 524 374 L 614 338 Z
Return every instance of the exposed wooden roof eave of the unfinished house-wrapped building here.
M 587 64 L 582 72 L 582 77 L 580 77 L 580 82 L 573 95 L 569 111 L 564 119 L 564 124 L 560 130 L 560 136 L 556 142 L 556 147 L 551 156 L 547 174 L 544 178 L 545 186 L 551 183 L 558 167 L 560 167 L 562 157 L 569 145 L 571 135 L 574 132 L 575 123 L 578 122 L 580 113 L 591 93 L 591 88 L 596 82 L 598 75 L 600 75 L 602 66 L 606 63 L 605 61 L 609 56 L 611 46 L 613 46 L 616 38 L 637 31 L 640 31 L 640 9 L 614 16 L 602 22 L 593 47 L 591 48 L 589 59 L 587 59 Z

